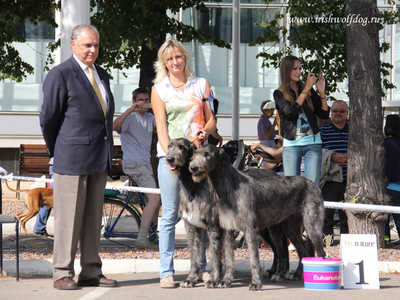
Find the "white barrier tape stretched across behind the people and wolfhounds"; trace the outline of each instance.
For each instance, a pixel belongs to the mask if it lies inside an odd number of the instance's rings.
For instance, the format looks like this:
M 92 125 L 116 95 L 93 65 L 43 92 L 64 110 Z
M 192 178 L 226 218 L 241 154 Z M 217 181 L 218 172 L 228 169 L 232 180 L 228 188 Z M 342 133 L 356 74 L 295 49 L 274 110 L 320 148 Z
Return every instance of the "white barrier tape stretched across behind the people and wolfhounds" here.
M 0 175 L 0 178 L 12 180 L 26 180 L 26 181 L 40 181 L 40 182 L 53 182 L 53 179 L 47 178 L 34 178 L 25 176 L 13 176 L 12 173 L 8 175 Z M 159 188 L 149 187 L 137 187 L 137 186 L 125 186 L 125 185 L 105 185 L 105 188 L 115 189 L 120 191 L 136 191 L 136 192 L 148 192 L 159 194 Z M 323 202 L 325 208 L 339 208 L 339 209 L 350 209 L 350 210 L 368 210 L 368 211 L 381 211 L 387 213 L 400 213 L 400 206 L 387 206 L 387 205 L 375 205 L 375 204 L 360 204 L 360 203 L 347 203 L 347 202 Z

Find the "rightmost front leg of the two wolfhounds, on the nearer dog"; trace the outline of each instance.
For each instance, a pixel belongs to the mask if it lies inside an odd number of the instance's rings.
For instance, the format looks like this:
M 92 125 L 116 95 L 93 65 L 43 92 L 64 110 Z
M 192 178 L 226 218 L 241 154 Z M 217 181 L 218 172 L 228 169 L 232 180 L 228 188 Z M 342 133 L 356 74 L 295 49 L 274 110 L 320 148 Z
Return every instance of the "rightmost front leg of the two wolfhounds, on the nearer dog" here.
M 248 254 L 250 256 L 250 270 L 251 270 L 251 282 L 248 284 L 249 290 L 260 290 L 262 286 L 262 270 L 259 264 L 258 256 L 258 235 L 254 229 L 255 226 L 249 226 L 245 230 L 245 236 L 248 243 Z

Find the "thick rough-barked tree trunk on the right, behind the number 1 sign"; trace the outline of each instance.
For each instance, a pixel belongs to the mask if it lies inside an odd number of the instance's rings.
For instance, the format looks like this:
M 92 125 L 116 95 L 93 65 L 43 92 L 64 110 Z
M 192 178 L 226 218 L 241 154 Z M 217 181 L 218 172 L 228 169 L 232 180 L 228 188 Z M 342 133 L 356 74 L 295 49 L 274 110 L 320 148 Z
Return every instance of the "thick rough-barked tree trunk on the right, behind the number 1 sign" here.
M 345 15 L 379 17 L 376 0 L 346 0 Z M 383 176 L 382 86 L 379 23 L 351 22 L 346 28 L 350 100 L 346 202 L 388 205 Z M 387 213 L 347 210 L 350 233 L 376 234 L 384 247 Z

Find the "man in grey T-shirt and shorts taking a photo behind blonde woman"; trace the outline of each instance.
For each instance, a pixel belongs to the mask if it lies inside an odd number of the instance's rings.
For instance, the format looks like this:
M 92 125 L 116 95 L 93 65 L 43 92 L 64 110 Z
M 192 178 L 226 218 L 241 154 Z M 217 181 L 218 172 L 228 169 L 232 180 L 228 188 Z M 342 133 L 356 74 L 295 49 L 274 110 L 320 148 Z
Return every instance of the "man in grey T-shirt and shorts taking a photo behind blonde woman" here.
M 139 87 L 132 92 L 132 105 L 119 115 L 112 124 L 121 136 L 122 170 L 133 178 L 140 187 L 156 188 L 150 164 L 152 132 L 156 132 L 154 115 L 148 113 L 144 103 L 149 103 L 148 91 Z M 147 204 L 141 215 L 140 229 L 135 242 L 136 247 L 157 247 L 147 238 L 148 227 L 153 221 L 156 225 L 160 207 L 160 195 L 145 193 Z

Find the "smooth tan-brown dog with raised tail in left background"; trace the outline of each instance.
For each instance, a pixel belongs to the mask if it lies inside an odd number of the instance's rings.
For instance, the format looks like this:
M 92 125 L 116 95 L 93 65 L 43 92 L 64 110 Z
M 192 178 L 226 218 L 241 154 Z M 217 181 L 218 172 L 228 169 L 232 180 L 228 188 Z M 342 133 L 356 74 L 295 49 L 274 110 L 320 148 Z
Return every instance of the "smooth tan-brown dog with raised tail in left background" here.
M 20 220 L 21 227 L 26 234 L 30 234 L 25 228 L 25 223 L 39 212 L 40 207 L 49 206 L 53 208 L 53 189 L 48 187 L 36 187 L 32 189 L 12 189 L 8 186 L 5 179 L 5 185 L 14 192 L 26 192 L 25 200 L 28 210 L 18 213 L 16 218 Z M 23 219 L 22 219 L 23 218 Z M 21 220 L 22 219 L 22 220 Z

